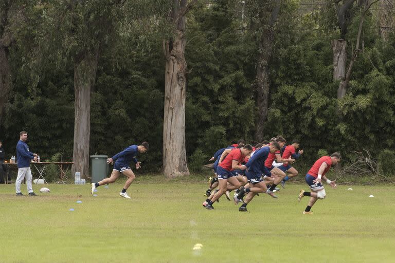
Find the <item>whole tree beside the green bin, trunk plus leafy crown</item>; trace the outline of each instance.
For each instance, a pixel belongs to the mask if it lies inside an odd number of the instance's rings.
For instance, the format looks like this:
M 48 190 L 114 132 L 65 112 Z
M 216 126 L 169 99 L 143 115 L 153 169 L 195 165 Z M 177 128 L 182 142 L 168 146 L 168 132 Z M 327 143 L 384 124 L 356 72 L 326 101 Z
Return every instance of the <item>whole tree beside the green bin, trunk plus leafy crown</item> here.
M 71 168 L 74 174 L 89 172 L 89 139 L 91 132 L 91 89 L 95 85 L 97 65 L 103 48 L 115 38 L 118 0 L 55 1 L 48 4 L 46 37 L 52 43 L 49 53 L 74 65 L 75 122 Z M 55 50 L 58 52 L 54 52 Z M 55 55 L 54 55 L 55 53 Z M 57 59 L 59 61 L 59 59 Z

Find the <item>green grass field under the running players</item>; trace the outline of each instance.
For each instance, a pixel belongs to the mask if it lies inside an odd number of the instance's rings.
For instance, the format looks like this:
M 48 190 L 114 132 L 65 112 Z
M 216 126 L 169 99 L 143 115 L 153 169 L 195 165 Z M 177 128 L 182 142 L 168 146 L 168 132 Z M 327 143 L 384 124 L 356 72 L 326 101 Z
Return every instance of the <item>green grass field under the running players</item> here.
M 154 182 L 132 184 L 132 199 L 118 195 L 121 182 L 97 197 L 89 184 L 49 184 L 49 194 L 33 185 L 37 197 L 0 185 L 0 262 L 395 262 L 394 187 L 327 187 L 314 215 L 302 215 L 304 184 L 241 213 L 225 197 L 203 209 L 206 184 Z

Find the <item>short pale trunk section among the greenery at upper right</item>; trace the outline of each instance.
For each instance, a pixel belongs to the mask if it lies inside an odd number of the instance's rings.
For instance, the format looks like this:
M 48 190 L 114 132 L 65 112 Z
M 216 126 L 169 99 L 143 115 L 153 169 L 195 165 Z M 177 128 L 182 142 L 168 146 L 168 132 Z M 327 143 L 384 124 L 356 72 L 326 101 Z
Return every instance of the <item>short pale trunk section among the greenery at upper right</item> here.
M 346 95 L 346 90 L 343 86 L 343 81 L 346 78 L 346 47 L 347 42 L 343 39 L 332 40 L 333 50 L 333 81 L 339 81 L 337 89 L 337 99 L 341 99 Z

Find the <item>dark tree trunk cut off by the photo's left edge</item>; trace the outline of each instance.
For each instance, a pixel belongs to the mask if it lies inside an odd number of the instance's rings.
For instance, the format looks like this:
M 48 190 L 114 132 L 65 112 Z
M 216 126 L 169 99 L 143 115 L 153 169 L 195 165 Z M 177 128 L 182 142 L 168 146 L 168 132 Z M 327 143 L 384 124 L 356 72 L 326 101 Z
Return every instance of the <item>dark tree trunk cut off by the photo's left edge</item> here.
M 11 72 L 6 49 L 0 44 L 0 124 L 2 123 L 8 92 L 11 88 Z

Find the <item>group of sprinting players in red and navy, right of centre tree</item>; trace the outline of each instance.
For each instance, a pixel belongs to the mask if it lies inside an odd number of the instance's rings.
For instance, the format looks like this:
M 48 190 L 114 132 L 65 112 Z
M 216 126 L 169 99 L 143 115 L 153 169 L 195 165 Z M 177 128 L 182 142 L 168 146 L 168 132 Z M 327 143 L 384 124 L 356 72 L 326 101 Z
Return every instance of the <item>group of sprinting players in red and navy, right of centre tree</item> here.
M 276 186 L 281 183 L 285 188 L 286 181 L 298 175 L 298 171 L 291 166 L 291 163 L 303 154 L 303 150 L 298 150 L 299 141 L 294 140 L 287 146 L 285 142 L 282 136 L 277 136 L 253 147 L 239 140 L 237 144 L 219 149 L 210 159 L 210 161 L 215 160 L 213 169 L 216 176 L 209 179 L 210 187 L 204 193 L 208 197 L 203 202 L 204 208 L 214 209 L 212 204 L 223 194 L 230 200 L 229 193 L 232 190 L 235 190 L 233 197 L 235 204 L 242 202 L 239 208 L 241 212 L 247 212 L 247 204 L 260 193 L 278 198 L 274 194 L 279 190 Z M 333 188 L 336 187 L 335 180 L 329 180 L 325 174 L 340 159 L 339 153 L 323 156 L 310 168 L 306 182 L 311 192 L 301 190 L 298 197 L 300 201 L 304 196 L 310 196 L 309 204 L 303 214 L 312 214 L 310 210 L 316 200 L 326 197 L 321 179 L 326 180 Z M 216 191 L 212 191 L 216 188 Z

